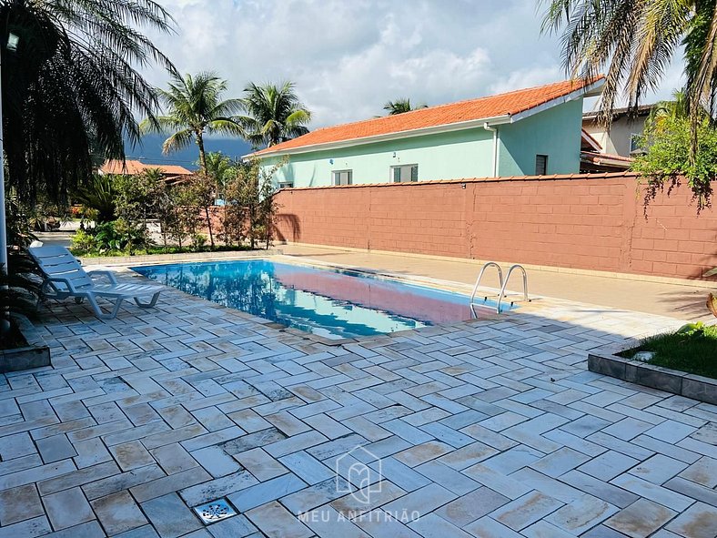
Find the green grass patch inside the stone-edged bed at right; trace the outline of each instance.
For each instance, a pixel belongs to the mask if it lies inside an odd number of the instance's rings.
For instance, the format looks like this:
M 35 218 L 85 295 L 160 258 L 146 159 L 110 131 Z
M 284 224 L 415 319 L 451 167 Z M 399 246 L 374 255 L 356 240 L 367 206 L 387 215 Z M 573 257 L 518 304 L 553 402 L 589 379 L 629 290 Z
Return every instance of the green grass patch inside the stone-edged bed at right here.
M 644 339 L 640 346 L 622 351 L 620 356 L 631 359 L 639 351 L 655 353 L 649 364 L 717 379 L 717 326 L 691 323 L 681 330 Z

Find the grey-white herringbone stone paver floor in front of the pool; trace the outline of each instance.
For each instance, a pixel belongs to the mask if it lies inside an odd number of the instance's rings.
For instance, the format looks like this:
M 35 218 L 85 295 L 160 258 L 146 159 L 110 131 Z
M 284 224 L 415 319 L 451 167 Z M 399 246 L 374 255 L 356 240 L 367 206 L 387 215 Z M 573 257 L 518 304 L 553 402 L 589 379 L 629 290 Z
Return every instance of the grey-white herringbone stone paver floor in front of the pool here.
M 717 407 L 586 370 L 674 320 L 562 302 L 337 347 L 167 289 L 37 325 L 53 368 L 0 379 L 0 538 L 717 534 Z

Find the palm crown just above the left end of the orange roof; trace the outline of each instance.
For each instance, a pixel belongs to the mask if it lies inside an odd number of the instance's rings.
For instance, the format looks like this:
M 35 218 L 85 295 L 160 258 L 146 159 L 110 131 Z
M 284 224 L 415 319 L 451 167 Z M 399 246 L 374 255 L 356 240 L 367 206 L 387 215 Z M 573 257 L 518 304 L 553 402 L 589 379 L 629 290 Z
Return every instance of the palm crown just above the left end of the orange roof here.
M 241 100 L 247 116 L 241 117 L 247 141 L 253 147 L 271 147 L 308 133 L 311 113 L 298 100 L 294 84 L 249 84 Z

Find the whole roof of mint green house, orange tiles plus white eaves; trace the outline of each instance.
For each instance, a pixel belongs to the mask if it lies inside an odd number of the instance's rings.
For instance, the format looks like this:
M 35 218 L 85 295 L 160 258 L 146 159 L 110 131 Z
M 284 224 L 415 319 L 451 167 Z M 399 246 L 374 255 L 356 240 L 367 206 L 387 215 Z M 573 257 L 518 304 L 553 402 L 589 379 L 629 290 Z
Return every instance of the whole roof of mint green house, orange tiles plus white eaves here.
M 592 80 L 566 80 L 497 96 L 420 108 L 395 116 L 324 127 L 252 155 L 282 155 L 325 147 L 354 146 L 379 140 L 481 127 L 486 122 L 490 125 L 512 123 L 573 98 L 588 94 L 598 95 L 602 84 L 603 77 Z

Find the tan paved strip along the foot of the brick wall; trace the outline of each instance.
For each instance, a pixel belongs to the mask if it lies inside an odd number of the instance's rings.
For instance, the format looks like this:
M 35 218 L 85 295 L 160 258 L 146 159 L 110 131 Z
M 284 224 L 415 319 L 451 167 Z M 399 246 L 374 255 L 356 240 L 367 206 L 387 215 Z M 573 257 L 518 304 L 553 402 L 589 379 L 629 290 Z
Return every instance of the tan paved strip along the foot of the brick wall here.
M 470 260 L 409 258 L 401 254 L 369 254 L 296 245 L 282 245 L 278 248 L 285 254 L 298 258 L 319 259 L 327 263 L 453 280 L 471 285 L 475 283 L 481 266 L 480 263 Z M 717 288 L 714 283 L 695 281 L 694 285 L 685 286 L 536 269 L 530 269 L 528 273 L 531 294 L 613 309 L 647 312 L 678 320 L 714 320 L 705 306 L 707 295 Z M 517 273 L 511 277 L 510 289 L 520 289 L 519 277 Z M 491 287 L 498 286 L 494 271 L 486 273 L 485 283 Z

